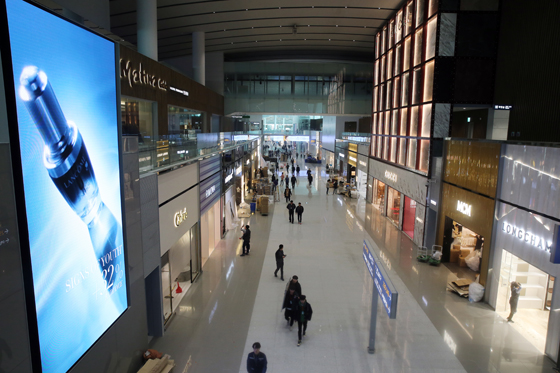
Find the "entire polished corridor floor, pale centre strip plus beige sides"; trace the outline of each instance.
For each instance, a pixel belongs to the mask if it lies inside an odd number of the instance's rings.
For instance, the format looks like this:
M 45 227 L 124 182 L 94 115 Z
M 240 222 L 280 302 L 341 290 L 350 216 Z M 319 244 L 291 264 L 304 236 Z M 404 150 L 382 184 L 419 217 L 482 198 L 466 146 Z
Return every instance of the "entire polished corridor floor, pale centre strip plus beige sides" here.
M 326 174 L 301 172 L 294 202 L 303 224 L 290 224 L 283 199 L 268 216 L 244 219 L 251 254 L 240 257 L 230 231 L 191 286 L 162 338 L 151 347 L 175 359 L 176 372 L 246 372 L 260 342 L 268 372 L 552 372 L 542 356 L 488 305 L 446 291 L 456 278 L 445 266 L 417 263 L 416 249 L 363 200 L 325 195 Z M 331 190 L 332 192 L 332 190 Z M 367 353 L 373 281 L 362 258 L 369 240 L 399 292 L 397 319 L 379 302 L 375 354 Z M 298 275 L 313 306 L 303 344 L 281 312 L 286 282 L 274 277 L 284 245 L 285 279 Z

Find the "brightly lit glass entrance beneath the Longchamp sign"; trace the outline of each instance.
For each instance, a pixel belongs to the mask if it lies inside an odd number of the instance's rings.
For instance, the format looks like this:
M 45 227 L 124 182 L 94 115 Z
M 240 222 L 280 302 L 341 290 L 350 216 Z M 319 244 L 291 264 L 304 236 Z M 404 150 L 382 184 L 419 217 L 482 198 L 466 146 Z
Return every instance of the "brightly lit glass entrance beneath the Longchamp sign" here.
M 547 304 L 547 301 L 548 294 L 552 294 L 554 277 L 509 251 L 503 250 L 496 312 L 504 319 L 510 315 L 511 311 L 509 299 L 512 281 L 521 284 L 517 313 L 512 318 L 514 321 L 512 326 L 544 353 L 550 316 L 550 305 Z

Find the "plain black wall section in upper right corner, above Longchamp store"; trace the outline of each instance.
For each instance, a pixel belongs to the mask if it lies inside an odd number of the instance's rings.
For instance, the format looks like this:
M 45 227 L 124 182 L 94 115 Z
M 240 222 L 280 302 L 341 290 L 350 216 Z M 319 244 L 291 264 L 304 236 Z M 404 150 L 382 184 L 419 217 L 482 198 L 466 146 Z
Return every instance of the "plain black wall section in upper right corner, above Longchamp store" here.
M 508 140 L 560 141 L 559 19 L 557 0 L 502 1 L 494 102 L 513 105 Z

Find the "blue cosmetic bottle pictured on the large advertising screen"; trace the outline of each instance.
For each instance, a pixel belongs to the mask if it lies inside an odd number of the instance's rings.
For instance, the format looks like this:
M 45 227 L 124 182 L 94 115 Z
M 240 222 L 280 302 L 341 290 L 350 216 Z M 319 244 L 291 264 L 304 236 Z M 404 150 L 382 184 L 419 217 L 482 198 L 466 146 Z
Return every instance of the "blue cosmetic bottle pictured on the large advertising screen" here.
M 122 227 L 101 199 L 82 135 L 66 120 L 45 72 L 27 66 L 20 84 L 19 96 L 45 143 L 44 165 L 60 194 L 86 224 L 106 291 L 111 294 L 116 290 L 116 275 L 124 271 Z

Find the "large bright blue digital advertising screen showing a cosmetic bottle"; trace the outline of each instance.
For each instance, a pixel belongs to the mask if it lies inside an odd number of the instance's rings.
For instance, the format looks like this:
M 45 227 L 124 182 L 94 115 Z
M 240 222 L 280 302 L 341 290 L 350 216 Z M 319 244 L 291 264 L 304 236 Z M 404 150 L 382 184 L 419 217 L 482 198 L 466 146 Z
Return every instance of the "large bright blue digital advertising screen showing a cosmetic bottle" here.
M 67 372 L 128 307 L 115 44 L 6 11 L 42 371 Z

